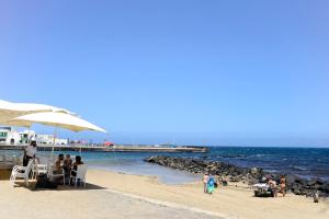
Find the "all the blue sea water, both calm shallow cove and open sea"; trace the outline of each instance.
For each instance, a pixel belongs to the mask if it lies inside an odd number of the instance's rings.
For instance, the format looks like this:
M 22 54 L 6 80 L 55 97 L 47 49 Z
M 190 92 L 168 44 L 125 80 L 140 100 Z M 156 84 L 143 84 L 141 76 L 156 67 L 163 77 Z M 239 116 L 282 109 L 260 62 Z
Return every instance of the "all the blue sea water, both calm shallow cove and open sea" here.
M 13 151 L 8 152 L 14 153 Z M 0 153 L 3 153 L 3 151 L 0 151 Z M 55 153 L 80 154 L 82 160 L 92 169 L 158 176 L 166 184 L 200 181 L 201 175 L 147 163 L 144 161 L 145 158 L 151 155 L 172 155 L 222 161 L 243 168 L 258 166 L 273 173 L 295 174 L 305 178 L 317 177 L 329 181 L 329 148 L 209 147 L 206 153 L 89 151 L 55 151 Z M 49 152 L 38 151 L 38 155 L 47 157 Z

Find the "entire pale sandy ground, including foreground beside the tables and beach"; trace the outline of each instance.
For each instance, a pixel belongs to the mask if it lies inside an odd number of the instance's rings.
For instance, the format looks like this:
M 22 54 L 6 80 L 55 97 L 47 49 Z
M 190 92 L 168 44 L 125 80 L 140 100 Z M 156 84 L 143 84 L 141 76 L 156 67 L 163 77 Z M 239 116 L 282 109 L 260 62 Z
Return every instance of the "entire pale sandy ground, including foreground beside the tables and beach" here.
M 32 183 L 33 185 L 33 183 Z M 152 176 L 100 170 L 88 171 L 84 189 L 12 188 L 0 181 L 1 218 L 246 218 L 320 219 L 329 217 L 329 203 L 287 194 L 256 198 L 242 184 L 219 186 L 203 194 L 202 183 L 166 185 Z M 31 210 L 33 209 L 33 210 Z

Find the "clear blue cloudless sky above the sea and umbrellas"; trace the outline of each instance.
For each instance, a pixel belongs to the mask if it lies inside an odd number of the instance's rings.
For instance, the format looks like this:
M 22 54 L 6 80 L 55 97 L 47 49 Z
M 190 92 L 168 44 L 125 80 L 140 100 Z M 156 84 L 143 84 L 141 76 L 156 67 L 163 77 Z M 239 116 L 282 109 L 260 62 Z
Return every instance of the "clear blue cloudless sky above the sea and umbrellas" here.
M 0 77 L 109 131 L 61 137 L 329 147 L 329 2 L 2 0 Z

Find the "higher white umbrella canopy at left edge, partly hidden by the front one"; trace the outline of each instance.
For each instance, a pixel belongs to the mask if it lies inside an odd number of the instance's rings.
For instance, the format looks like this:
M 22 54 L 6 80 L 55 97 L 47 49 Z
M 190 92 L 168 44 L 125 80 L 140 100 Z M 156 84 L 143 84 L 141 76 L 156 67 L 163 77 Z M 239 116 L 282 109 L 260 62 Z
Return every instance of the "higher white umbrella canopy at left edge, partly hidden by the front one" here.
M 34 104 L 34 103 L 11 103 L 0 100 L 0 124 L 10 125 L 8 120 L 15 118 L 18 116 L 37 113 L 37 112 L 61 112 L 66 114 L 72 114 L 67 110 L 58 108 L 45 104 Z

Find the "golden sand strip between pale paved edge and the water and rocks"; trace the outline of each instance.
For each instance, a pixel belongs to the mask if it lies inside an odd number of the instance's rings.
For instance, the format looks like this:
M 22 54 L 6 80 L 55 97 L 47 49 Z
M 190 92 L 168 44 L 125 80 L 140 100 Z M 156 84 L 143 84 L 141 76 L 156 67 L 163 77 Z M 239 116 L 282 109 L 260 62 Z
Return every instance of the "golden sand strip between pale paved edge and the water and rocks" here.
M 109 182 L 97 180 L 98 174 L 111 176 Z M 110 171 L 90 170 L 91 182 L 99 182 L 110 189 L 133 194 L 145 198 L 168 201 L 189 208 L 219 214 L 226 218 L 326 218 L 329 217 L 329 203 L 314 204 L 311 198 L 287 194 L 286 197 L 253 197 L 252 189 L 236 183 L 219 186 L 213 195 L 203 194 L 202 182 L 182 185 L 160 183 L 156 176 L 132 175 Z M 120 180 L 117 180 L 120 178 Z M 272 215 L 266 210 L 273 208 Z

